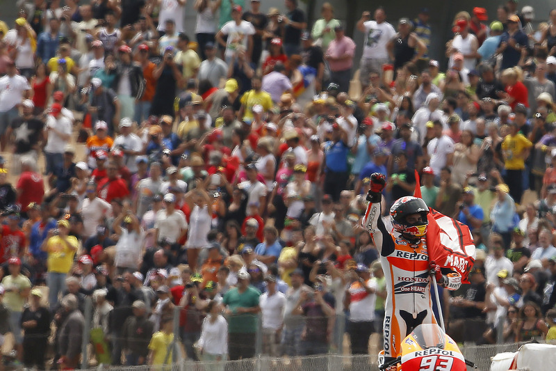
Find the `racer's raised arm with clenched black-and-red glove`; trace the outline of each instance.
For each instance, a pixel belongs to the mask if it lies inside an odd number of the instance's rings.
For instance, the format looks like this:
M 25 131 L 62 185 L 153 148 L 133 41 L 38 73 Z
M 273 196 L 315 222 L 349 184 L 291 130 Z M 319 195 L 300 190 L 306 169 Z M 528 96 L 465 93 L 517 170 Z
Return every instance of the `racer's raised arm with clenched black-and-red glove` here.
M 381 191 L 386 185 L 384 175 L 374 173 L 370 175 L 370 190 L 367 194 L 369 205 L 361 225 L 366 228 L 373 239 L 373 243 L 377 246 L 377 250 L 382 256 L 390 255 L 394 251 L 394 242 L 391 239 L 386 226 L 380 218 L 380 204 L 382 201 Z

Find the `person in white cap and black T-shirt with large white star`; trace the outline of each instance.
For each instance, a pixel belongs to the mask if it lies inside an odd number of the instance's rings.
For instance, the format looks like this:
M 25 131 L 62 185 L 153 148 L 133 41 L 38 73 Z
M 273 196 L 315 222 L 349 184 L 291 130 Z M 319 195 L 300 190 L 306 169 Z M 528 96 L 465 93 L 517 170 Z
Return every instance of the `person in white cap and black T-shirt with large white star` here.
M 22 103 L 23 115 L 15 118 L 8 127 L 6 135 L 8 138 L 15 137 L 15 148 L 11 161 L 11 172 L 15 175 L 21 172 L 21 161 L 24 157 L 38 159 L 38 148 L 42 143 L 42 130 L 44 123 L 33 115 L 35 104 L 32 100 L 24 100 Z

